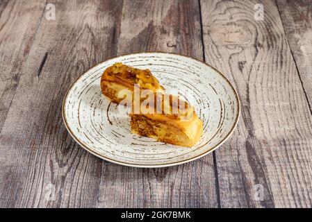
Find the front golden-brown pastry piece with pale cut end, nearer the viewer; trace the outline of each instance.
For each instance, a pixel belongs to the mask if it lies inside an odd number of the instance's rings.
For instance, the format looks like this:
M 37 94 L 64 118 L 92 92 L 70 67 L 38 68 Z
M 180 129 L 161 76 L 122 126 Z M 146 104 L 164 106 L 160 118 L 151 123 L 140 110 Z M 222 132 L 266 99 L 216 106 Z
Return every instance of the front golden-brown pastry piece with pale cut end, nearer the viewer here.
M 153 95 L 156 105 L 151 108 L 140 99 L 139 112 L 135 112 L 134 107 L 138 105 L 138 100 L 134 99 L 130 114 L 132 133 L 168 144 L 194 146 L 203 133 L 202 120 L 197 117 L 194 108 L 177 96 L 165 94 L 156 96 L 156 93 Z M 168 99 L 165 99 L 166 96 Z M 142 104 L 145 106 L 145 113 L 142 112 Z M 157 110 L 157 107 L 161 110 Z

